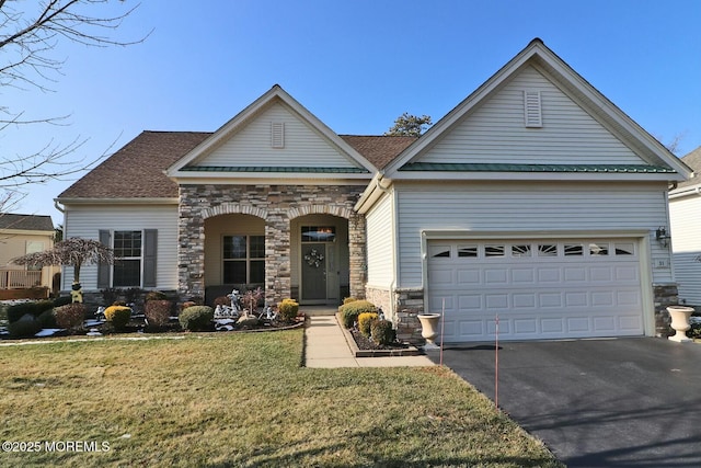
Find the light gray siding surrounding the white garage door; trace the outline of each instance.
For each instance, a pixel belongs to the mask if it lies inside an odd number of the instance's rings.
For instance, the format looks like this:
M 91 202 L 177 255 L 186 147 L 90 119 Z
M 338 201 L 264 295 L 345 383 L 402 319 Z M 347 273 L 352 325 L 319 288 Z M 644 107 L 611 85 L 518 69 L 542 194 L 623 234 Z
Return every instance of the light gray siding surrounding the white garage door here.
M 399 210 L 400 287 L 422 286 L 421 232 L 654 230 L 667 222 L 666 184 L 570 183 L 409 184 L 395 182 Z M 669 250 L 651 241 L 655 283 L 671 281 Z

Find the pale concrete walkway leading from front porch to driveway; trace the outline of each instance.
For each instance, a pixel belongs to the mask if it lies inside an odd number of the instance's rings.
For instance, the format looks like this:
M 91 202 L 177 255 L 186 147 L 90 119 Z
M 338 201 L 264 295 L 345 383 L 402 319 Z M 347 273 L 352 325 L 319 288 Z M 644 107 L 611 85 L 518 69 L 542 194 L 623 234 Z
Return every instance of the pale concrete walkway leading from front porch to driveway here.
M 304 330 L 307 367 L 435 366 L 427 356 L 355 357 L 334 315 L 309 318 Z

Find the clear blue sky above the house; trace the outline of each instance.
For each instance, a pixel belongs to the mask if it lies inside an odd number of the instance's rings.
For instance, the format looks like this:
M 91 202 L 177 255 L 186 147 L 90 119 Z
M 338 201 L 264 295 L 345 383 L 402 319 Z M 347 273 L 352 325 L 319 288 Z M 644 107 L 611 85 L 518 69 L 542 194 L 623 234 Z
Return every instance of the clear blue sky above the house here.
M 114 33 L 153 30 L 142 44 L 61 43 L 53 92 L 0 91 L 25 118 L 69 115 L 5 128 L 0 151 L 79 138 L 68 159 L 92 160 L 145 129 L 216 130 L 276 83 L 338 134 L 380 135 L 403 112 L 438 121 L 540 37 L 663 142 L 681 135 L 683 156 L 701 146 L 700 24 L 698 0 L 148 0 Z M 70 184 L 12 210 L 61 224 L 53 198 Z

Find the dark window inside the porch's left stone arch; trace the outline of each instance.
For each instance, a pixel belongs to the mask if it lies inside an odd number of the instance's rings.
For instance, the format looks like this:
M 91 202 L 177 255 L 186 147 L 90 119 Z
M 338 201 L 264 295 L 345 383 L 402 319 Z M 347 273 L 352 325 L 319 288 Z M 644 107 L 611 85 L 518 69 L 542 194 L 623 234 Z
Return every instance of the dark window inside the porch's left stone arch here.
M 265 236 L 223 237 L 223 282 L 265 282 Z

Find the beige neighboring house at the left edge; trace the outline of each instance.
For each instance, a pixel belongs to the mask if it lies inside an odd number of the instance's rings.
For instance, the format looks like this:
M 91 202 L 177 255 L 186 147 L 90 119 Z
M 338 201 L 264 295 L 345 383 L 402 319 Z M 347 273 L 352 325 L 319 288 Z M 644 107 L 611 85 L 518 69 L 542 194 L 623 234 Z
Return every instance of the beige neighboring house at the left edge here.
M 50 216 L 0 214 L 0 289 L 46 286 L 51 288 L 53 266 L 25 266 L 10 260 L 54 247 Z

